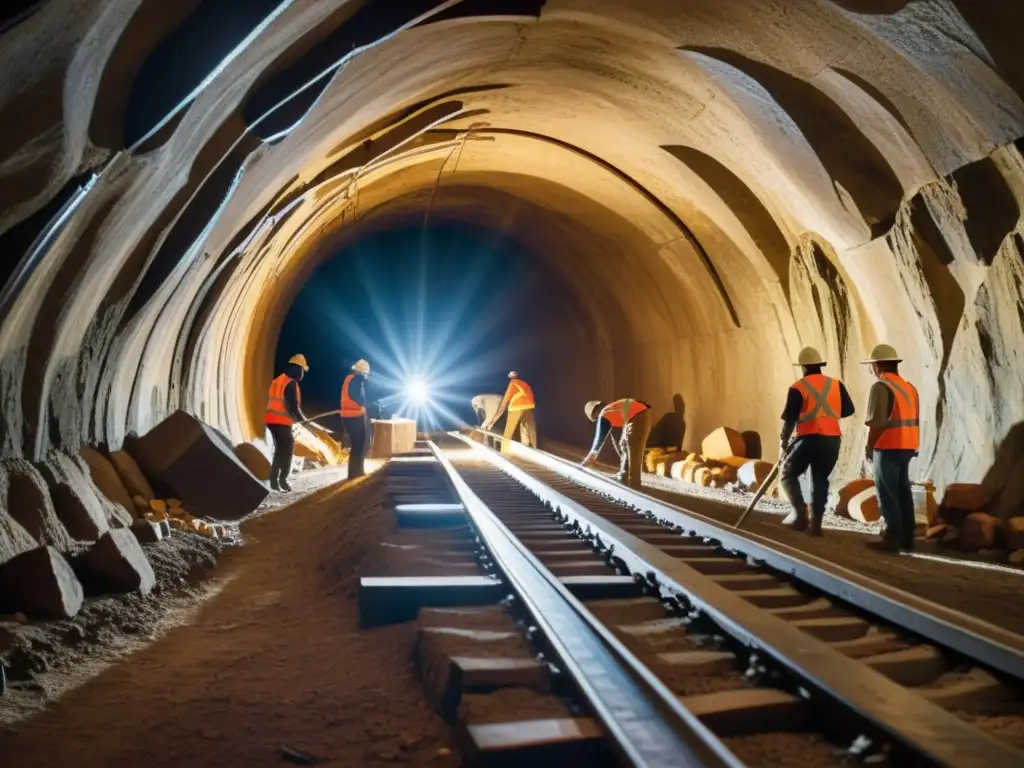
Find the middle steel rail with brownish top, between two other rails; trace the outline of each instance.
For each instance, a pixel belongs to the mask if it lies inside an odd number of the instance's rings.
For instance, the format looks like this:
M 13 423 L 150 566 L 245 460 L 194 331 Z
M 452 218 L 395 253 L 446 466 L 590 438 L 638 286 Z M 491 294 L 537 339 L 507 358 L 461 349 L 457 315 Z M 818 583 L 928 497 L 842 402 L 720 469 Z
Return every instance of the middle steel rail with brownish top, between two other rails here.
M 633 572 L 649 573 L 672 593 L 702 608 L 725 632 L 757 647 L 808 685 L 840 701 L 894 741 L 935 765 L 995 768 L 1024 765 L 1024 754 L 986 735 L 860 662 L 757 608 L 685 562 L 629 534 L 551 488 L 528 472 L 465 435 L 452 433 L 481 459 L 532 490 L 614 549 Z

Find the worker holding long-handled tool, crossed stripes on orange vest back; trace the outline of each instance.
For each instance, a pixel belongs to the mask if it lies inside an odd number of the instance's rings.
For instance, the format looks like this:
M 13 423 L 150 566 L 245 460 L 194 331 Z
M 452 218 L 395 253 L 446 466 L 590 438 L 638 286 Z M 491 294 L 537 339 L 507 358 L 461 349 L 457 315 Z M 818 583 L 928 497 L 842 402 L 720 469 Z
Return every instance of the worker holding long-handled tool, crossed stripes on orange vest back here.
M 811 536 L 821 536 L 828 476 L 839 461 L 843 439 L 839 421 L 853 416 L 853 400 L 843 382 L 821 373 L 826 364 L 814 347 L 801 349 L 796 365 L 804 375 L 786 394 L 779 436 L 779 461 L 782 462 L 779 485 L 793 504 L 793 512 L 782 522 L 795 530 L 807 529 L 807 505 L 800 477 L 810 469 Z M 794 432 L 797 438 L 791 443 Z

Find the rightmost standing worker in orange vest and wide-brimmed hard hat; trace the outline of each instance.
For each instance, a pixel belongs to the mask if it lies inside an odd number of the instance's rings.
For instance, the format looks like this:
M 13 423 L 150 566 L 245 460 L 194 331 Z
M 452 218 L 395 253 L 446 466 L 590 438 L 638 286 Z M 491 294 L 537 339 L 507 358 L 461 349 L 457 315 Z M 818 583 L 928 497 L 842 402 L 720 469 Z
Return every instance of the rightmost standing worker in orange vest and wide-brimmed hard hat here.
M 921 397 L 899 375 L 902 360 L 888 344 L 879 344 L 863 362 L 878 381 L 867 395 L 865 458 L 874 467 L 879 511 L 886 521 L 883 538 L 871 549 L 913 550 L 913 492 L 910 461 L 921 449 Z

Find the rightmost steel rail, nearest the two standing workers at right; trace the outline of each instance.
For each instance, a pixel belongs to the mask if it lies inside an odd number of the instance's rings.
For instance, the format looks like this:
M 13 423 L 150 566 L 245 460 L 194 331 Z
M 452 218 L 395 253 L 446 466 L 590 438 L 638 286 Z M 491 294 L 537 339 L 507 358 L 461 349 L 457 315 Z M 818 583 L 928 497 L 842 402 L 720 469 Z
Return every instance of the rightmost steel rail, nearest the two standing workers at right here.
M 483 432 L 483 430 L 477 430 Z M 485 432 L 504 440 L 502 435 Z M 469 440 L 465 435 L 460 439 Z M 615 501 L 640 507 L 657 518 L 718 541 L 724 549 L 740 552 L 765 565 L 900 627 L 936 645 L 962 653 L 979 666 L 1024 681 L 1024 637 L 976 616 L 948 608 L 903 590 L 871 581 L 856 571 L 634 490 L 611 478 L 544 451 L 511 441 L 510 455 L 525 459 Z

